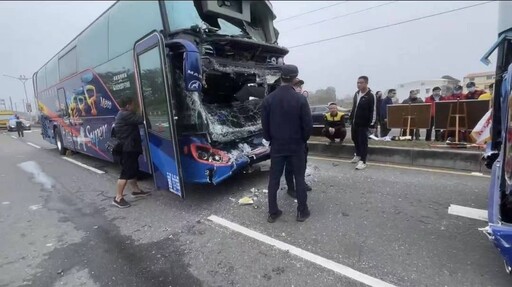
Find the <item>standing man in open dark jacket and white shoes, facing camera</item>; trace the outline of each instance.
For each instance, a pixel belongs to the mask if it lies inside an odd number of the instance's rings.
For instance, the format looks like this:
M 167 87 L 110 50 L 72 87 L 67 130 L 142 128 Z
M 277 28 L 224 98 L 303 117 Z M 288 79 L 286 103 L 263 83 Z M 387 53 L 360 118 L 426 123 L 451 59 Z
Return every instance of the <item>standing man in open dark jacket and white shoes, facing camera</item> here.
M 368 88 L 368 77 L 361 76 L 357 79 L 358 91 L 354 94 L 352 112 L 350 113 L 351 136 L 356 149 L 352 163 L 357 163 L 356 169 L 366 168 L 366 156 L 368 155 L 368 130 L 375 129 L 377 120 L 377 101 L 375 95 Z M 371 131 L 373 133 L 373 131 Z

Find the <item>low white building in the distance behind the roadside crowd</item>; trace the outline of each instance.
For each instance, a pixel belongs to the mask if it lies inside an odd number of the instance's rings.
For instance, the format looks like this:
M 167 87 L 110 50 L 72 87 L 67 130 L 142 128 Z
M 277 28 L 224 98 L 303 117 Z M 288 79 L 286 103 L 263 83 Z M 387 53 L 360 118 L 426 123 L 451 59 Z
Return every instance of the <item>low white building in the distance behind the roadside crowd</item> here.
M 426 97 L 432 94 L 432 89 L 434 87 L 443 88 L 443 86 L 451 86 L 454 87 L 460 83 L 460 80 L 457 80 L 451 76 L 443 76 L 439 79 L 430 79 L 430 80 L 418 80 L 412 81 L 408 83 L 399 84 L 396 87 L 396 94 L 400 102 L 409 97 L 409 92 L 411 90 L 415 90 L 418 93 L 418 97 L 425 100 Z

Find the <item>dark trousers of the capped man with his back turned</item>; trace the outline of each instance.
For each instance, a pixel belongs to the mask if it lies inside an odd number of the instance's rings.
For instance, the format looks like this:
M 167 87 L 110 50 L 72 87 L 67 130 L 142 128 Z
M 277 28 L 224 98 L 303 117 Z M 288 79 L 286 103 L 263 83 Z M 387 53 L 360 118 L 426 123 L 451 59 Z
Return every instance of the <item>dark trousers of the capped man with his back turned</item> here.
M 308 209 L 306 194 L 306 180 L 304 173 L 306 166 L 304 165 L 306 153 L 304 151 L 294 155 L 271 155 L 270 157 L 270 176 L 268 181 L 268 212 L 276 214 L 279 210 L 277 207 L 277 191 L 279 183 L 283 175 L 285 165 L 289 165 L 293 170 L 295 178 L 295 192 L 297 194 L 297 211 L 303 212 Z

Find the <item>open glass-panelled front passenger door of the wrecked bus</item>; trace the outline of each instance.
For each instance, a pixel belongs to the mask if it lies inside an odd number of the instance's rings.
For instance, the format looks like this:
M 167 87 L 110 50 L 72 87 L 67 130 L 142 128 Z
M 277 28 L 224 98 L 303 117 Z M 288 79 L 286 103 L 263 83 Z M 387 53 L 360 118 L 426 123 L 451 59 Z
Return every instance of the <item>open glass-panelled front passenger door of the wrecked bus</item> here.
M 155 32 L 137 42 L 134 54 L 139 101 L 145 118 L 148 160 L 155 186 L 185 198 L 162 36 Z

